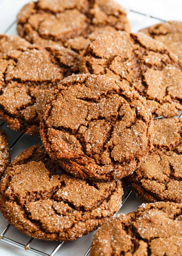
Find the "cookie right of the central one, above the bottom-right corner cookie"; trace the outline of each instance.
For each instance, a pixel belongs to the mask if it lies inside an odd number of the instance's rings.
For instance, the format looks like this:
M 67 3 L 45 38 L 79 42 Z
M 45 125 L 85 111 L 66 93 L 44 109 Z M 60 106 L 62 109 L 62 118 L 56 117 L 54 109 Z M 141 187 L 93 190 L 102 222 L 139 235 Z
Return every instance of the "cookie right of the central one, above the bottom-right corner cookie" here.
M 154 120 L 154 148 L 146 161 L 125 178 L 147 202 L 182 203 L 182 119 Z

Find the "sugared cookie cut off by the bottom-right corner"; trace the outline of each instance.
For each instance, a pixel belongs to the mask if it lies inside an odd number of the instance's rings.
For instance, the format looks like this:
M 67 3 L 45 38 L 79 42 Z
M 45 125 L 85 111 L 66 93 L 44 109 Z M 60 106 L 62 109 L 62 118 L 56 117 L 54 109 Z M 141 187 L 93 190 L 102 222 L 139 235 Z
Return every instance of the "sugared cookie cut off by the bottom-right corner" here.
M 103 224 L 90 256 L 181 256 L 181 246 L 182 204 L 157 202 Z

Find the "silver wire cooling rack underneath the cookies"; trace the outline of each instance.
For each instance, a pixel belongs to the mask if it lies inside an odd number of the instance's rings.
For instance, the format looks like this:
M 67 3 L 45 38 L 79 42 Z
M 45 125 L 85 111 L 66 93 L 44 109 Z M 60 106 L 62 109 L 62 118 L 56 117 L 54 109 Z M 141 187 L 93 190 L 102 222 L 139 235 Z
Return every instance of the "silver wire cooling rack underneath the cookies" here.
M 16 1 L 17 3 L 18 1 Z M 21 2 L 21 1 L 20 1 Z M 22 1 L 24 4 L 24 2 Z M 22 4 L 21 3 L 21 4 Z M 0 0 L 0 10 L 2 10 L 5 1 Z M 19 4 L 19 3 L 18 3 Z M 4 5 L 5 6 L 5 5 Z M 11 15 L 4 15 L 4 23 L 1 24 L 1 33 L 15 35 L 16 34 L 16 20 L 12 20 L 12 17 L 16 15 L 19 10 L 19 6 L 8 6 L 6 8 L 10 10 Z M 140 13 L 135 10 L 127 10 L 128 19 L 131 23 L 132 32 L 137 32 L 139 29 L 150 26 L 152 24 L 162 22 L 164 20 L 154 17 L 146 13 Z M 1 15 L 1 13 L 0 13 Z M 3 15 L 3 13 L 2 13 Z M 11 18 L 10 18 L 11 17 Z M 4 28 L 4 29 L 3 29 Z M 182 114 L 180 114 L 181 116 Z M 8 141 L 11 145 L 12 159 L 19 155 L 20 152 L 26 148 L 40 143 L 39 138 L 25 135 L 21 132 L 15 132 L 10 130 L 4 122 L 0 121 L 0 126 L 6 131 L 8 135 Z M 125 193 L 122 199 L 122 207 L 119 213 L 127 213 L 129 211 L 137 210 L 138 206 L 142 203 L 141 199 L 138 199 L 131 190 L 124 186 Z M 124 206 L 123 206 L 124 205 Z M 2 229 L 2 232 L 1 232 Z M 94 233 L 94 232 L 93 232 Z M 41 255 L 41 256 L 88 256 L 90 251 L 90 245 L 93 238 L 93 233 L 83 236 L 75 241 L 71 242 L 46 242 L 30 238 L 18 230 L 14 229 L 10 224 L 7 224 L 4 217 L 0 215 L 0 249 L 2 246 L 9 244 L 8 247 L 4 247 L 4 255 Z M 21 251 L 19 249 L 23 249 Z

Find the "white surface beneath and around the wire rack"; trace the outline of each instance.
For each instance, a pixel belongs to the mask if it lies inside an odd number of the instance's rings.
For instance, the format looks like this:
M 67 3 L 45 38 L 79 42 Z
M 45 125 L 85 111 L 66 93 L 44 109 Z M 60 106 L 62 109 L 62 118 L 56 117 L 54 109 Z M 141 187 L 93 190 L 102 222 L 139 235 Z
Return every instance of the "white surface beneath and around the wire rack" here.
M 5 31 L 8 30 L 8 27 L 11 24 L 15 23 L 16 15 L 18 10 L 24 5 L 26 0 L 0 0 L 0 33 L 3 34 Z M 158 17 L 164 20 L 181 20 L 181 10 L 182 10 L 182 1 L 132 1 L 129 0 L 125 1 L 117 1 L 122 4 L 127 9 L 136 10 L 138 12 L 148 13 L 154 17 Z M 149 26 L 155 23 L 158 23 L 158 20 L 154 18 L 149 18 L 143 15 L 139 15 L 134 12 L 128 13 L 128 18 L 131 23 L 132 32 L 138 31 L 138 29 Z M 16 34 L 16 24 L 11 26 L 11 28 L 7 31 L 9 35 Z M 8 133 L 8 139 L 10 144 L 15 141 L 15 139 L 19 136 L 20 133 L 15 131 L 11 131 L 7 126 L 3 126 L 3 128 Z M 25 150 L 27 147 L 39 143 L 40 139 L 34 138 L 32 136 L 24 136 L 21 141 L 16 144 L 16 146 L 12 150 L 12 158 L 18 155 L 20 152 Z M 125 202 L 123 207 L 120 209 L 120 213 L 127 213 L 130 211 L 137 210 L 137 207 L 142 203 L 142 200 L 136 198 L 134 194 L 132 194 L 128 200 Z M 0 215 L 0 233 L 7 225 L 7 221 Z M 19 241 L 23 244 L 26 244 L 30 239 L 28 236 L 22 235 L 21 232 L 11 228 L 6 236 L 13 240 Z M 64 255 L 64 256 L 81 256 L 84 255 L 87 249 L 89 248 L 91 241 L 92 241 L 93 234 L 86 235 L 82 238 L 79 238 L 73 242 L 64 243 L 60 250 L 57 252 L 56 255 Z M 45 241 L 35 241 L 32 247 L 44 251 L 46 253 L 50 253 L 56 242 L 45 242 Z M 8 255 L 8 256 L 25 256 L 25 255 L 33 255 L 30 254 L 28 251 L 23 251 L 16 247 L 10 246 L 8 244 L 2 243 L 0 241 L 0 255 Z

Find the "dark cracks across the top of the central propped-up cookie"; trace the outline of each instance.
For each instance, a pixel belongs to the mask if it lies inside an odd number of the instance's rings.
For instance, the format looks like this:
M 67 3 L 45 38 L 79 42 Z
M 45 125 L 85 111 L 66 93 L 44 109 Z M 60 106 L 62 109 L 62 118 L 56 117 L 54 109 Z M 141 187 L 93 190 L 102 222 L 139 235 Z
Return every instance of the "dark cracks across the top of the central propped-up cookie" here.
M 86 76 L 86 75 L 85 75 L 85 76 Z M 74 76 L 73 76 L 73 77 L 74 77 Z M 81 78 L 81 79 L 82 79 L 82 78 Z M 86 77 L 84 78 L 84 75 L 83 75 L 83 80 L 84 80 L 84 81 L 82 81 L 81 83 L 83 83 L 84 86 L 85 86 L 85 84 L 86 84 L 85 87 L 88 87 L 88 88 L 89 88 L 89 86 L 87 85 L 87 82 L 86 82 L 87 79 L 88 79 L 88 82 L 90 82 L 89 77 L 86 76 Z M 72 81 L 72 80 L 73 80 L 73 81 Z M 63 82 L 61 82 L 61 84 L 60 84 L 60 89 L 59 89 L 59 86 L 58 86 L 58 90 L 56 90 L 56 91 L 53 93 L 53 97 L 50 98 L 50 99 L 48 99 L 48 102 L 47 102 L 47 103 L 48 103 L 48 107 L 47 107 L 47 109 L 45 110 L 46 116 L 43 117 L 43 119 L 42 119 L 41 129 L 42 129 L 42 131 L 43 131 L 43 133 L 44 133 L 44 135 L 45 135 L 44 138 L 45 138 L 45 140 L 47 141 L 47 144 L 49 145 L 49 147 L 51 147 L 52 142 L 51 142 L 51 136 L 48 136 L 47 131 L 48 131 L 49 128 L 53 128 L 54 130 L 58 130 L 58 131 L 60 130 L 60 131 L 62 131 L 63 133 L 68 133 L 68 134 L 74 136 L 74 137 L 77 139 L 77 141 L 79 142 L 79 144 L 81 145 L 81 150 L 82 150 L 82 152 L 83 152 L 83 154 L 84 154 L 84 157 L 92 158 L 92 159 L 90 159 L 90 160 L 92 160 L 92 161 L 94 160 L 94 162 L 95 162 L 95 164 L 96 164 L 97 166 L 100 166 L 100 167 L 105 166 L 105 164 L 102 163 L 102 161 L 101 161 L 101 157 L 102 157 L 102 153 L 103 153 L 103 152 L 107 152 L 107 153 L 109 154 L 107 157 L 109 157 L 109 159 L 110 159 L 109 161 L 111 161 L 111 164 L 110 164 L 110 165 L 111 165 L 111 169 L 112 169 L 112 170 L 110 170 L 109 173 L 103 173 L 103 174 L 100 174 L 100 171 L 99 171 L 99 170 L 96 170 L 96 172 L 98 172 L 99 175 L 103 175 L 103 177 L 104 177 L 104 176 L 111 177 L 111 174 L 114 173 L 112 167 L 114 167 L 114 169 L 115 169 L 115 168 L 117 168 L 118 165 L 120 165 L 120 166 L 126 166 L 126 165 L 128 165 L 128 164 L 134 164 L 134 162 L 135 162 L 136 164 L 139 164 L 139 159 L 138 159 L 137 157 L 135 157 L 133 160 L 131 160 L 131 159 L 128 160 L 128 159 L 127 159 L 126 161 L 122 161 L 122 163 L 121 163 L 119 160 L 114 159 L 114 157 L 111 156 L 111 152 L 112 152 L 112 150 L 113 150 L 113 148 L 114 148 L 114 146 L 115 146 L 116 144 L 108 145 L 108 146 L 107 146 L 108 142 L 110 141 L 110 139 L 111 139 L 111 137 L 112 137 L 112 133 L 113 133 L 113 131 L 114 131 L 114 126 L 115 126 L 115 124 L 116 124 L 117 122 L 119 123 L 120 121 L 122 121 L 122 120 L 125 118 L 125 113 L 122 112 L 122 113 L 120 114 L 120 110 L 121 110 L 121 108 L 123 107 L 124 104 L 126 104 L 126 105 L 128 104 L 128 106 L 131 108 L 131 111 L 132 111 L 133 115 L 136 115 L 136 117 L 134 117 L 134 121 L 132 121 L 132 123 L 130 123 L 129 125 L 126 125 L 125 129 L 131 129 L 132 126 L 135 125 L 135 122 L 138 122 L 138 120 L 141 120 L 141 121 L 142 121 L 143 123 L 145 123 L 146 126 L 147 126 L 147 127 L 146 127 L 147 136 L 148 136 L 149 133 L 150 133 L 150 130 L 149 130 L 149 128 L 148 128 L 148 120 L 147 120 L 147 119 L 145 120 L 145 118 L 142 117 L 143 113 L 142 113 L 142 112 L 140 113 L 140 111 L 137 110 L 137 109 L 135 110 L 135 114 L 134 114 L 133 109 L 135 109 L 135 106 L 133 106 L 133 105 L 130 104 L 131 102 L 134 102 L 134 101 L 136 101 L 136 103 L 139 102 L 139 101 L 140 101 L 140 98 L 138 98 L 137 95 L 135 95 L 135 94 L 133 94 L 133 95 L 130 95 L 130 94 L 129 94 L 130 96 L 128 96 L 128 95 L 125 93 L 125 90 L 122 89 L 121 87 L 118 87 L 118 88 L 113 87 L 113 90 L 108 89 L 108 91 L 99 94 L 97 97 L 93 97 L 93 99 L 90 99 L 89 97 L 84 97 L 84 98 L 82 98 L 82 97 L 80 97 L 80 96 L 74 96 L 74 97 L 75 97 L 76 99 L 78 99 L 78 100 L 86 101 L 86 104 L 85 104 L 85 105 L 87 106 L 87 103 L 88 103 L 88 104 L 89 104 L 89 103 L 99 104 L 102 99 L 106 99 L 106 98 L 112 99 L 112 98 L 115 98 L 115 95 L 117 95 L 117 97 L 118 97 L 118 96 L 120 97 L 120 101 L 121 101 L 122 103 L 120 103 L 119 106 L 117 106 L 117 109 L 114 110 L 114 111 L 117 111 L 116 113 L 113 112 L 114 114 L 111 114 L 111 115 L 109 115 L 109 116 L 105 116 L 105 115 L 102 116 L 102 115 L 99 115 L 99 116 L 97 116 L 96 118 L 94 118 L 94 117 L 89 117 L 89 115 L 91 115 L 91 113 L 92 113 L 92 112 L 91 112 L 92 110 L 89 108 L 89 105 L 88 105 L 88 112 L 87 112 L 86 117 L 84 117 L 84 118 L 85 118 L 85 124 L 84 124 L 84 122 L 82 122 L 83 124 L 80 123 L 80 124 L 78 125 L 78 127 L 77 127 L 77 130 L 74 130 L 73 128 L 64 127 L 64 126 L 55 126 L 54 124 L 49 125 L 49 124 L 47 123 L 47 118 L 51 116 L 51 114 L 52 114 L 52 113 L 51 113 L 51 112 L 52 112 L 52 109 L 55 108 L 55 106 L 52 104 L 52 102 L 54 101 L 54 104 L 55 104 L 58 95 L 62 95 L 62 97 L 64 97 L 64 91 L 65 91 L 65 90 L 69 90 L 69 88 L 71 88 L 70 86 L 73 86 L 73 85 L 74 85 L 74 86 L 76 87 L 76 84 L 78 84 L 78 86 L 80 86 L 79 80 L 80 80 L 80 77 L 79 77 L 78 79 L 76 79 L 76 80 L 71 79 L 71 77 L 70 77 L 70 80 L 68 80 L 68 81 L 69 81 L 69 86 L 68 86 L 67 83 L 66 83 L 67 79 L 65 79 L 65 81 L 63 80 Z M 81 81 L 81 80 L 80 80 L 80 81 Z M 116 86 L 117 86 L 117 81 L 115 81 L 115 84 L 116 84 Z M 65 86 L 65 89 L 62 90 L 62 87 L 61 87 L 61 86 Z M 78 88 L 79 88 L 79 87 L 78 87 Z M 129 87 L 128 87 L 128 88 L 129 88 Z M 79 89 L 78 89 L 78 90 L 79 90 Z M 129 90 L 131 90 L 131 89 L 129 89 Z M 80 92 L 79 92 L 79 93 L 80 93 Z M 75 94 L 75 95 L 76 95 L 76 94 Z M 122 99 L 122 98 L 123 98 L 123 99 Z M 69 104 L 69 102 L 68 102 L 68 104 Z M 93 107 L 94 107 L 94 104 L 93 104 Z M 138 103 L 137 103 L 137 104 L 138 104 Z M 127 114 L 127 112 L 126 112 L 126 114 Z M 89 119 L 89 120 L 88 120 L 88 119 Z M 82 127 L 85 126 L 84 129 L 86 129 L 86 130 L 92 129 L 92 128 L 94 128 L 94 123 L 93 123 L 93 122 L 94 122 L 94 121 L 96 122 L 96 121 L 99 121 L 99 120 L 103 120 L 104 122 L 106 122 L 106 125 L 108 125 L 108 130 L 106 130 L 106 132 L 105 132 L 105 133 L 106 133 L 106 134 L 105 134 L 105 139 L 103 139 L 102 145 L 98 145 L 96 151 L 92 151 L 92 150 L 89 149 L 89 148 L 91 148 L 90 146 L 91 146 L 92 142 L 86 141 L 85 136 L 83 136 L 82 133 L 81 133 L 81 131 L 80 131 L 80 128 L 82 128 Z M 91 123 L 92 123 L 92 124 L 91 124 Z M 93 127 L 90 126 L 90 124 L 93 125 Z M 50 130 L 50 133 L 51 133 L 51 130 Z M 85 133 L 85 130 L 84 130 L 84 133 Z M 147 143 L 148 143 L 148 147 L 151 146 L 150 139 L 151 139 L 151 138 L 149 138 L 149 140 L 148 140 L 148 142 L 147 142 Z M 87 145 L 88 145 L 89 147 L 87 147 Z M 51 152 L 51 154 L 52 154 L 52 152 Z M 54 159 L 56 159 L 56 158 L 54 158 Z M 80 157 L 73 157 L 73 158 L 70 157 L 69 159 L 65 159 L 64 156 L 63 156 L 63 157 L 61 157 L 61 159 L 58 159 L 58 160 L 60 160 L 60 163 L 61 163 L 61 161 L 63 161 L 63 165 L 62 165 L 63 168 L 65 168 L 65 165 L 68 165 L 69 168 L 71 168 L 71 163 L 77 164 L 77 162 L 79 161 L 79 165 L 80 165 L 80 166 L 83 166 L 82 171 L 83 171 L 84 173 L 86 173 L 86 169 L 83 170 L 84 167 L 86 167 L 86 165 L 83 163 L 84 161 L 82 161 L 81 159 L 82 159 L 81 156 L 80 156 Z M 69 161 L 70 161 L 70 163 L 69 163 Z M 89 161 L 89 159 L 88 159 L 88 161 Z M 133 161 L 134 161 L 134 162 L 133 162 Z M 80 162 L 81 162 L 81 163 L 80 163 Z M 90 162 L 90 163 L 91 163 L 91 162 Z M 92 162 L 92 163 L 93 163 L 93 162 Z M 74 173 L 74 172 L 73 172 L 73 173 Z

